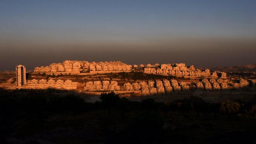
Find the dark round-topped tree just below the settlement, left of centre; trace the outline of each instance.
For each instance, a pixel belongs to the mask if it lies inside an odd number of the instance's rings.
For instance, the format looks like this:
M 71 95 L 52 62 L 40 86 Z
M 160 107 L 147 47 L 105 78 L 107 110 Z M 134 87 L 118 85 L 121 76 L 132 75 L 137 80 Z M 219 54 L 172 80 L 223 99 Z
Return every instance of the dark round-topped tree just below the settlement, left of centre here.
M 108 108 L 108 114 L 111 114 L 111 108 L 116 106 L 120 97 L 114 92 L 100 94 L 100 100 Z

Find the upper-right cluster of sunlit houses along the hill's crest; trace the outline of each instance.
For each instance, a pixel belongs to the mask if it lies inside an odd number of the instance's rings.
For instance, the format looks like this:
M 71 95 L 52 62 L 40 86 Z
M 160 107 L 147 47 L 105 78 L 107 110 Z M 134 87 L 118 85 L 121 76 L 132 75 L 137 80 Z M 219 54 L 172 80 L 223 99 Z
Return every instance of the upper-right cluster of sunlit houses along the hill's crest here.
M 146 67 L 144 68 L 146 74 L 168 74 L 172 76 L 212 76 L 217 78 L 217 72 L 210 72 L 209 69 L 196 69 L 193 65 L 186 66 L 184 63 L 179 64 L 162 64 L 160 67 Z M 226 78 L 225 72 L 219 72 L 222 78 Z

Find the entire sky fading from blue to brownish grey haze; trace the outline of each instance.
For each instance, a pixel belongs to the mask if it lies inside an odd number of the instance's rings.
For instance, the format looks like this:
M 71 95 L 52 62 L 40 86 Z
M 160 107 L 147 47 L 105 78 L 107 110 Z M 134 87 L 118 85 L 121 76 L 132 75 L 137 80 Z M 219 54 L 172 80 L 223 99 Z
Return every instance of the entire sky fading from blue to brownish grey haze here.
M 256 64 L 256 0 L 0 0 L 0 71 L 64 60 Z

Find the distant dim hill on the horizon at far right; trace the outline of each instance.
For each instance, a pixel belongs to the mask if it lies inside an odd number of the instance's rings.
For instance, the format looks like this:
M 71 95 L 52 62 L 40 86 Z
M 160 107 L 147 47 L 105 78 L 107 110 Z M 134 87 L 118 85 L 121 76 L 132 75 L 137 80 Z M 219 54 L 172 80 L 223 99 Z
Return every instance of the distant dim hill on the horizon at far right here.
M 209 68 L 211 71 L 232 71 L 232 72 L 256 72 L 256 64 L 248 64 L 245 66 L 219 66 Z

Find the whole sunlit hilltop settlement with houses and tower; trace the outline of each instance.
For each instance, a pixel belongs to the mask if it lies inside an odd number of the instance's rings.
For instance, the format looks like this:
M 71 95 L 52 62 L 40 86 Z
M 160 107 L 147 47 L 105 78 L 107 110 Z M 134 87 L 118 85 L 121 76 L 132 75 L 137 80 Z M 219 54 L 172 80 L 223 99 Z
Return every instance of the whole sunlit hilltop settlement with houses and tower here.
M 132 96 L 255 88 L 256 79 L 221 71 L 198 69 L 184 63 L 129 65 L 120 61 L 65 60 L 26 73 L 16 66 L 16 78 L 5 89 L 59 89 L 79 92 L 110 92 Z

